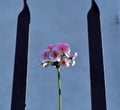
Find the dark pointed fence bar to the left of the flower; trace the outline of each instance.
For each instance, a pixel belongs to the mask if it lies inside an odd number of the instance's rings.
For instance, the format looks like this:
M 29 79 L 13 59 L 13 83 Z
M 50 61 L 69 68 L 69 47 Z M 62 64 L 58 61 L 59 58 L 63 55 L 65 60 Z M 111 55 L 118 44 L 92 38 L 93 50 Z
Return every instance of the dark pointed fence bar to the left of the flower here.
M 11 110 L 25 110 L 30 12 L 26 0 L 18 16 Z

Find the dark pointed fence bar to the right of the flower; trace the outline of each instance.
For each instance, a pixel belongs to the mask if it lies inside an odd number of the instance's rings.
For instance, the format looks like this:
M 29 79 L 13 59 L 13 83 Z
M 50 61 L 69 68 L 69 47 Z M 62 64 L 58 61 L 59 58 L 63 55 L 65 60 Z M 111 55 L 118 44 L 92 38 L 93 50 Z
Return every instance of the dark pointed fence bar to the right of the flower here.
M 87 18 L 92 110 L 107 110 L 100 12 L 94 0 L 92 0 L 92 6 L 88 12 Z

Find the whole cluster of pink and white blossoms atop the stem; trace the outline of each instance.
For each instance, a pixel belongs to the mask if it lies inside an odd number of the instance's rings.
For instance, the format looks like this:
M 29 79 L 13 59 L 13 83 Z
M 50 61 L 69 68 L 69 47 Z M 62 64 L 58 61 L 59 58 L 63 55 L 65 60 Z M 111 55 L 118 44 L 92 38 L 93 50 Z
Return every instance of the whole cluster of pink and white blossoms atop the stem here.
M 77 52 L 71 56 L 70 51 L 70 45 L 67 43 L 51 44 L 41 54 L 40 63 L 43 67 L 49 65 L 55 67 L 69 67 L 70 63 L 74 66 Z

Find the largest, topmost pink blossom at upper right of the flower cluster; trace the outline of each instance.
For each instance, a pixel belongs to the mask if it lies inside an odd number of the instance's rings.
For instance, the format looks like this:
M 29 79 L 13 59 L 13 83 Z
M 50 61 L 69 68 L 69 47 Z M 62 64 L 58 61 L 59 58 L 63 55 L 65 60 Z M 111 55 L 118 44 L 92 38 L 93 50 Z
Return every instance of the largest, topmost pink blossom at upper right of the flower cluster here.
M 70 56 L 70 45 L 67 43 L 58 43 L 55 46 L 56 50 L 61 54 L 61 55 L 66 55 L 67 57 Z

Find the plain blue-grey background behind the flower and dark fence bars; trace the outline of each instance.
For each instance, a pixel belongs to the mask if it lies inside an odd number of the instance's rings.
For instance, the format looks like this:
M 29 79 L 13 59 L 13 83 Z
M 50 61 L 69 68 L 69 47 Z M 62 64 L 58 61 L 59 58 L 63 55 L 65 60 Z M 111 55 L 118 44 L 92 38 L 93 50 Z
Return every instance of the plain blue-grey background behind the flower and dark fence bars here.
M 120 109 L 120 1 L 96 0 L 101 30 L 108 110 Z M 57 71 L 39 66 L 49 45 L 67 42 L 76 65 L 61 69 L 63 110 L 91 110 L 87 13 L 90 0 L 28 0 L 31 12 L 26 110 L 57 110 Z M 17 17 L 22 0 L 0 3 L 0 110 L 10 110 Z

